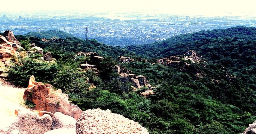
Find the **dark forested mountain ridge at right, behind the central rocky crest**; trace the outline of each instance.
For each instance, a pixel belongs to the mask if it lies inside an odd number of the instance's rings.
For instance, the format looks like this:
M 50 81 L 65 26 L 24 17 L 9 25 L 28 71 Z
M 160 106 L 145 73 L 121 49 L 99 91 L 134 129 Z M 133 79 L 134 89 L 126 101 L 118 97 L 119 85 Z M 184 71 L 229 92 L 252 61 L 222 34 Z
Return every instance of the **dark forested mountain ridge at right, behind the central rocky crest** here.
M 127 48 L 150 58 L 182 55 L 189 50 L 195 50 L 213 63 L 222 64 L 233 71 L 255 74 L 253 70 L 256 68 L 256 28 L 254 27 L 203 30 Z

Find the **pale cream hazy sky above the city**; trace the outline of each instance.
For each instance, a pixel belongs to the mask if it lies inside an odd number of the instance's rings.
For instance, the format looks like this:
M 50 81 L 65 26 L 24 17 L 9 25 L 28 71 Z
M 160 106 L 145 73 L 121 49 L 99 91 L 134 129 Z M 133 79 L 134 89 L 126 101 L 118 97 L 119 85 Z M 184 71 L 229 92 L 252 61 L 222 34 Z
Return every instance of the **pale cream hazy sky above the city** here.
M 154 11 L 204 16 L 255 16 L 256 0 L 12 0 L 0 11 L 78 10 L 91 12 Z M 3 4 L 3 3 L 2 3 Z M 232 14 L 231 14 L 232 13 Z

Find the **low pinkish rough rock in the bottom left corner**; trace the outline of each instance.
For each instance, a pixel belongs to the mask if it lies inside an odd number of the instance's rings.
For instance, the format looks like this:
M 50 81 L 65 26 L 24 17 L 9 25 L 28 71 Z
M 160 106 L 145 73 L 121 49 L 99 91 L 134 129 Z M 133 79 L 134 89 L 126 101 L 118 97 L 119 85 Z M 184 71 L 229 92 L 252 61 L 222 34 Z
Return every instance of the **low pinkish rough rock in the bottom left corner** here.
M 20 134 L 43 134 L 51 130 L 52 118 L 48 114 L 42 117 L 32 113 L 19 114 L 17 120 L 0 133 L 16 132 Z

